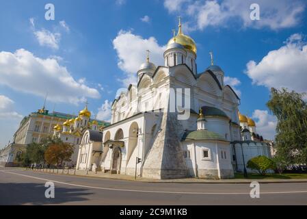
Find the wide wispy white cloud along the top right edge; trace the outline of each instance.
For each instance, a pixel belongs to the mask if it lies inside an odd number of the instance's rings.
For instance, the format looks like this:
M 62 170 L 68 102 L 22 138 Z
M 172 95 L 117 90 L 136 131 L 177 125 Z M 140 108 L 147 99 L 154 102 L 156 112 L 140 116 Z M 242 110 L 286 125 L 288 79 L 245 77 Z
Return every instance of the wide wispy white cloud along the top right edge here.
M 250 5 L 258 3 L 260 6 L 260 20 L 250 19 Z M 281 29 L 294 27 L 299 24 L 306 8 L 302 0 L 178 0 L 164 1 L 165 8 L 171 13 L 180 13 L 186 17 L 189 31 L 204 29 L 208 26 L 226 26 L 232 21 L 240 21 L 243 27 Z

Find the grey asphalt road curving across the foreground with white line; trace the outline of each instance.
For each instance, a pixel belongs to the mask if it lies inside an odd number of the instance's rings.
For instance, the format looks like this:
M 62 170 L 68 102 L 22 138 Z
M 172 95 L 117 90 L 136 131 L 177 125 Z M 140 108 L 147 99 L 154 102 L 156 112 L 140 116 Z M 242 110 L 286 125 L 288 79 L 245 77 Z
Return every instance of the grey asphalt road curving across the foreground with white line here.
M 46 198 L 46 181 L 55 198 Z M 144 183 L 0 168 L 0 205 L 307 205 L 307 183 Z

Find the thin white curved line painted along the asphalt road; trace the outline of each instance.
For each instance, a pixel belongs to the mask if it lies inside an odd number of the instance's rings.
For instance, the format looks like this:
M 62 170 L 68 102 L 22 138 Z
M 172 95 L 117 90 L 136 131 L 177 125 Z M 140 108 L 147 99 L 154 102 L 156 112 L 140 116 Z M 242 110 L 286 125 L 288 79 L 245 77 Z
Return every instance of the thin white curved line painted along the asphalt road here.
M 145 193 L 167 193 L 167 194 L 250 194 L 250 192 L 172 192 L 172 191 L 150 191 L 150 190 L 124 190 L 124 189 L 115 189 L 115 188 L 103 188 L 103 187 L 95 187 L 90 185 L 79 185 L 79 184 L 72 184 L 72 183 L 64 183 L 61 181 L 54 181 L 52 179 L 44 179 L 40 177 L 32 177 L 29 175 L 23 175 L 16 172 L 9 172 L 9 171 L 3 171 L 0 170 L 0 172 L 6 172 L 10 173 L 12 175 L 19 175 L 22 177 L 28 177 L 33 179 L 39 179 L 42 181 L 52 181 L 54 183 L 64 184 L 64 185 L 72 185 L 76 187 L 83 187 L 83 188 L 91 188 L 91 189 L 97 189 L 97 190 L 113 190 L 113 191 L 121 191 L 121 192 L 145 192 Z M 307 193 L 306 191 L 284 191 L 284 192 L 261 192 L 261 194 L 291 194 L 291 193 Z

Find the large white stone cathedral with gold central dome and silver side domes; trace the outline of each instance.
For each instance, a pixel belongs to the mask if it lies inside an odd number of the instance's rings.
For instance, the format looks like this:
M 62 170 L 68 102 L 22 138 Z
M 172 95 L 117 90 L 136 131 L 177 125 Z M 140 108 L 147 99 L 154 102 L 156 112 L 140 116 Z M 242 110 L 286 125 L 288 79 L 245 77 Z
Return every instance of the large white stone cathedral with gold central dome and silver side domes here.
M 114 100 L 111 125 L 85 131 L 77 169 L 150 179 L 228 179 L 242 169 L 237 157 L 270 156 L 256 139 L 254 121 L 241 118 L 239 96 L 224 84 L 224 70 L 212 54 L 211 66 L 198 72 L 196 43 L 183 34 L 180 21 L 163 57 L 164 65 L 155 66 L 147 55 L 137 84 Z

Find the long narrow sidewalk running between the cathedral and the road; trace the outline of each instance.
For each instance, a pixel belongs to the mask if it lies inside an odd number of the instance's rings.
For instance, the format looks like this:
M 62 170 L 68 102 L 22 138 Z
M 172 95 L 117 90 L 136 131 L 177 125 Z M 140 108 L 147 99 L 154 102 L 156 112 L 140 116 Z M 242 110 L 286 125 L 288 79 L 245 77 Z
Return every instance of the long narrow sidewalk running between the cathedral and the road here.
M 252 181 L 257 181 L 258 183 L 307 183 L 307 179 L 198 179 L 198 178 L 185 178 L 185 179 L 146 179 L 146 178 L 135 178 L 129 175 L 118 175 L 118 174 L 109 174 L 103 172 L 88 172 L 88 174 L 84 170 L 76 170 L 70 169 L 69 171 L 59 169 L 57 173 L 57 169 L 51 170 L 26 170 L 25 168 L 20 168 L 25 171 L 33 171 L 33 172 L 44 172 L 55 175 L 72 175 L 79 177 L 95 177 L 95 178 L 103 178 L 103 179 L 117 179 L 117 180 L 126 180 L 126 181 L 138 181 L 144 183 L 251 183 Z M 53 172 L 54 171 L 54 172 Z

